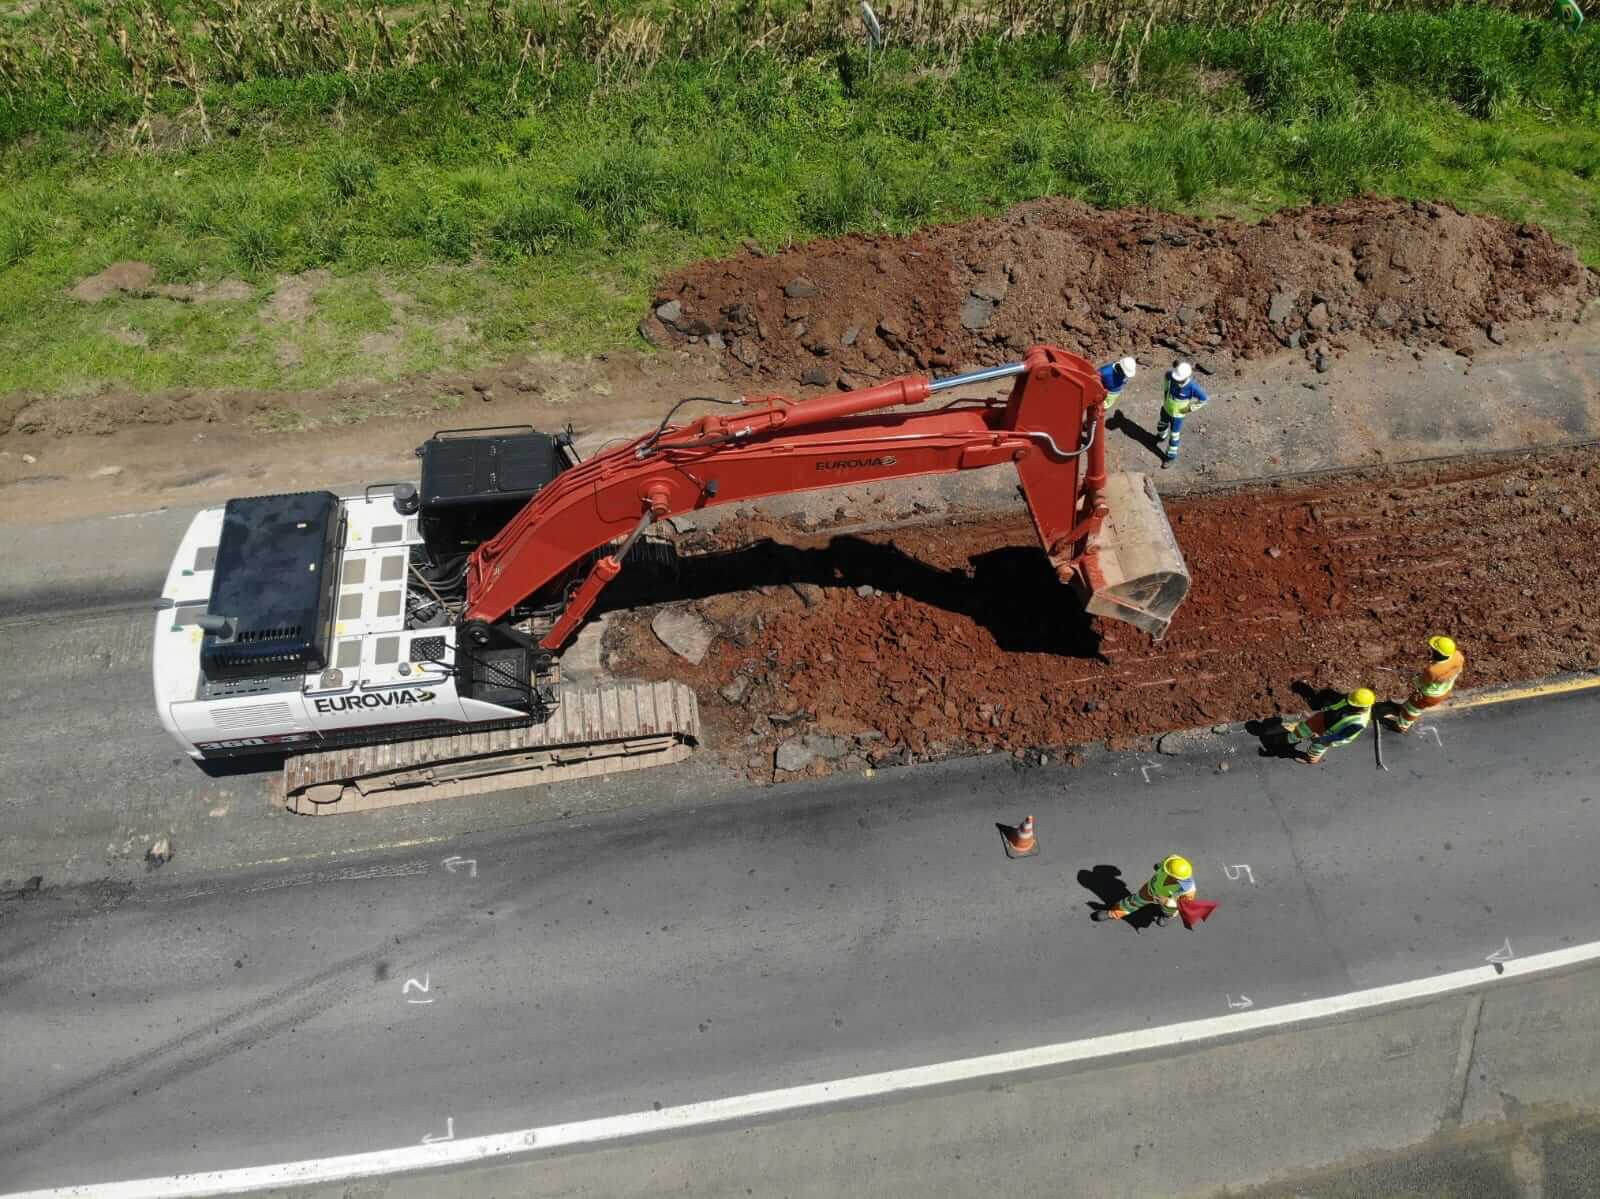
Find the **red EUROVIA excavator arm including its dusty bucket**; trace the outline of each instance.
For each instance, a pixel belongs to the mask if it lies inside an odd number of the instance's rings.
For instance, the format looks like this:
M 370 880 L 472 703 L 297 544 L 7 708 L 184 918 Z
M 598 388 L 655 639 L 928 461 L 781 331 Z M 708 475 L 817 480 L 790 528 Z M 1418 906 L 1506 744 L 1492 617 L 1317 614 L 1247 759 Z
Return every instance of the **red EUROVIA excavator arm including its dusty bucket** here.
M 1000 378 L 1014 379 L 1005 405 L 971 400 L 885 411 Z M 1147 480 L 1142 491 L 1128 485 L 1130 475 L 1107 487 L 1104 395 L 1085 359 L 1034 346 L 1019 363 L 938 381 L 906 376 L 803 402 L 744 399 L 747 411 L 738 416 L 667 426 L 557 475 L 474 551 L 462 621 L 499 621 L 592 551 L 626 538 L 595 563 L 541 640 L 542 648 L 558 650 L 654 520 L 770 495 L 1011 463 L 1056 575 L 1077 581 L 1091 612 L 1158 637 L 1189 579 Z M 1123 498 L 1107 503 L 1110 493 Z M 1130 511 L 1114 515 L 1114 506 Z M 1109 539 L 1107 519 L 1122 520 L 1131 536 Z M 1157 527 L 1147 528 L 1152 520 Z

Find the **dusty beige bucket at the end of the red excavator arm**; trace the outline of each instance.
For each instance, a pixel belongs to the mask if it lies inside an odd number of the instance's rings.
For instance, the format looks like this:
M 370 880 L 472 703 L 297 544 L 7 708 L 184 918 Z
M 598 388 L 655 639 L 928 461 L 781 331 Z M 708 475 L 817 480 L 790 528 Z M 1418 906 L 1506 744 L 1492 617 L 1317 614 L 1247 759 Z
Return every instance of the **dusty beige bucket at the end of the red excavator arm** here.
M 1110 511 L 1078 575 L 1088 591 L 1085 607 L 1160 640 L 1189 594 L 1178 538 L 1149 475 L 1114 474 L 1104 498 Z

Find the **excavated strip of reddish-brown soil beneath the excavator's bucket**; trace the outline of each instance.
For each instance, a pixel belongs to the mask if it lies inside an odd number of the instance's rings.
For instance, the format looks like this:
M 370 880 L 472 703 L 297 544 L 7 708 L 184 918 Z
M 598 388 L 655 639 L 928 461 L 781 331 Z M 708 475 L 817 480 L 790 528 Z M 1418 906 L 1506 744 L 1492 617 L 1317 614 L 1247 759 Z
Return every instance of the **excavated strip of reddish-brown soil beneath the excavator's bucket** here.
M 1466 685 L 1600 664 L 1600 450 L 1171 503 L 1194 591 L 1162 644 L 1083 616 L 1024 519 L 758 543 L 686 563 L 723 636 L 686 668 L 648 613 L 616 669 L 698 685 L 714 743 L 771 776 L 1024 751 L 1397 696 L 1429 632 Z

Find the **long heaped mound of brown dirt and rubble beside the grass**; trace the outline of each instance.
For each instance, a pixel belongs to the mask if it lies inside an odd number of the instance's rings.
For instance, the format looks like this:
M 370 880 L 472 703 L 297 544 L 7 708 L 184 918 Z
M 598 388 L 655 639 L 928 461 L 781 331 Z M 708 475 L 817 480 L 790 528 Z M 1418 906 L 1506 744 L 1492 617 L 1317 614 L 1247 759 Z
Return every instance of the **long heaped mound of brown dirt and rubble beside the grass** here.
M 1600 280 L 1538 226 L 1350 200 L 1261 224 L 1034 200 L 910 237 L 757 250 L 670 275 L 640 330 L 736 376 L 851 387 L 1054 343 L 1205 367 L 1350 339 L 1470 354 L 1514 322 L 1578 319 Z

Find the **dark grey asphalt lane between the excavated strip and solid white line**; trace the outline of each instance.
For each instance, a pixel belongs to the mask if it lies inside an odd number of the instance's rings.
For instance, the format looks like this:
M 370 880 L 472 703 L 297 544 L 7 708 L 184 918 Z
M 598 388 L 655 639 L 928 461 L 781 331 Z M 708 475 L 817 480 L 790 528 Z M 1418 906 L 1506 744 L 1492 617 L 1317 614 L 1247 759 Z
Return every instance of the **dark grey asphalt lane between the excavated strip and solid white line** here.
M 1370 741 L 1310 770 L 1238 735 L 46 888 L 0 904 L 0 1186 L 610 1116 L 1597 940 L 1597 704 L 1461 712 L 1386 738 L 1387 773 Z M 994 823 L 1029 812 L 1043 852 L 1011 863 Z M 1078 871 L 1138 884 L 1171 850 L 1211 924 L 1088 922 Z

